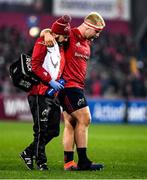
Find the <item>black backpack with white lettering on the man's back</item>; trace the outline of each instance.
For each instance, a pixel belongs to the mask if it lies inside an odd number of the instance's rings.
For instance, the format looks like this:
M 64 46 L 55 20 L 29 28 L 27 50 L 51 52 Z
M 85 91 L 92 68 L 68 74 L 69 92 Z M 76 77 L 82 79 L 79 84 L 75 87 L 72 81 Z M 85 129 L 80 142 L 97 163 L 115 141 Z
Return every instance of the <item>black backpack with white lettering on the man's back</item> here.
M 21 54 L 17 61 L 10 65 L 9 73 L 14 86 L 25 92 L 40 82 L 31 70 L 31 57 L 27 54 Z

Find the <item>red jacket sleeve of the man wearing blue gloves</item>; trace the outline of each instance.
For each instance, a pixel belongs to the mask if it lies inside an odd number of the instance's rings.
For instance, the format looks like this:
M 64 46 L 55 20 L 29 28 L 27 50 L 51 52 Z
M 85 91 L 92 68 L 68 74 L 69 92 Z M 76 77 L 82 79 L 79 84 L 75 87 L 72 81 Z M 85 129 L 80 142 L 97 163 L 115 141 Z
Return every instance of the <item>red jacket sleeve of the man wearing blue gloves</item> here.
M 44 83 L 48 84 L 51 80 L 50 74 L 42 67 L 44 58 L 47 53 L 47 47 L 44 45 L 43 38 L 38 38 L 32 54 L 32 71 L 37 75 Z

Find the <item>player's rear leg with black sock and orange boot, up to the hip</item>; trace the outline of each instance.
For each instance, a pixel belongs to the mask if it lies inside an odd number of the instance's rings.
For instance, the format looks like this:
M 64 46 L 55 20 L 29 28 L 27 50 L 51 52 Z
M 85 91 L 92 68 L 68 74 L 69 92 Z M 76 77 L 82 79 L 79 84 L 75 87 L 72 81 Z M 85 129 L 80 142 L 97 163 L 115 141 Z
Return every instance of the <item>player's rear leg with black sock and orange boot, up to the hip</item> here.
M 64 146 L 64 169 L 77 169 L 77 164 L 74 162 L 74 127 L 75 119 L 70 116 L 72 105 L 68 101 L 68 89 L 63 89 L 59 92 L 59 101 L 63 108 L 64 132 L 63 132 L 63 146 Z M 72 92 L 69 92 L 72 96 Z

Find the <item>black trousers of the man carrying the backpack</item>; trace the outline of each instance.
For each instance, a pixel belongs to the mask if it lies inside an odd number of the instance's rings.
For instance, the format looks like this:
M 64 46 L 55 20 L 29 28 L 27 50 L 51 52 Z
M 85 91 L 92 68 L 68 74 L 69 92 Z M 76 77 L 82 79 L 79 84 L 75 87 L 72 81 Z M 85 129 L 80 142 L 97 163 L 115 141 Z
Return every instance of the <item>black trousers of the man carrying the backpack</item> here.
M 25 149 L 30 156 L 35 156 L 37 164 L 47 162 L 45 145 L 60 131 L 60 105 L 57 99 L 35 95 L 28 96 L 33 116 L 34 141 Z

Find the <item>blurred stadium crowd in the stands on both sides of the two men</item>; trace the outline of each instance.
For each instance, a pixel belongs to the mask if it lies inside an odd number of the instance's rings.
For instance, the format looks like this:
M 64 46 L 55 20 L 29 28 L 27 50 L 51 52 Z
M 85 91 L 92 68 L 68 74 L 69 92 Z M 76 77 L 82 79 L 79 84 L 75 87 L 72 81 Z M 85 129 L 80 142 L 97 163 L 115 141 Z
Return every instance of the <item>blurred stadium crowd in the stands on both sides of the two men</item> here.
M 9 77 L 9 66 L 20 53 L 29 52 L 35 39 L 16 27 L 0 27 L 0 92 L 22 93 Z M 93 97 L 144 98 L 147 96 L 147 54 L 133 37 L 103 32 L 95 40 L 89 60 L 86 94 Z

